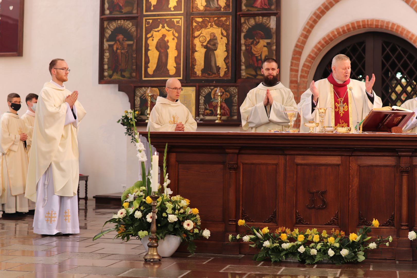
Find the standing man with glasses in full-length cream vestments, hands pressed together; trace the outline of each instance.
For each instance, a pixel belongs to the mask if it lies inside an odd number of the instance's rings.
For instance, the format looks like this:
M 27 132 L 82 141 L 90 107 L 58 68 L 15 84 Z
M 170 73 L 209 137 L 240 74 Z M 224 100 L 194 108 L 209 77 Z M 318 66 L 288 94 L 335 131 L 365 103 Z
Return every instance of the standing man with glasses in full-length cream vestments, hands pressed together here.
M 36 107 L 25 197 L 36 202 L 34 233 L 79 233 L 77 133 L 85 110 L 78 91 L 63 85 L 70 73 L 65 60 L 53 59 L 49 73 Z

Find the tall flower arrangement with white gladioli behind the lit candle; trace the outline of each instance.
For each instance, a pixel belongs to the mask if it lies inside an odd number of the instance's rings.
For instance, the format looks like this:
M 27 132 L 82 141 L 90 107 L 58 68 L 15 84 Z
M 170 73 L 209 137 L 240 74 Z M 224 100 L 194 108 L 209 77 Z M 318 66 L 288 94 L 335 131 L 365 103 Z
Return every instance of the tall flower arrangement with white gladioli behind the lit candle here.
M 132 117 L 134 115 L 132 111 Z M 121 197 L 122 208 L 113 215 L 113 218 L 107 220 L 103 227 L 109 223 L 115 224 L 113 228 L 102 230 L 95 235 L 93 240 L 111 231 L 117 231 L 114 238 L 121 238 L 128 241 L 131 237 L 143 238 L 151 233 L 152 222 L 152 200 L 151 191 L 151 174 L 157 169 L 150 169 L 146 174 L 145 161 L 147 160 L 145 154 L 145 146 L 139 140 L 139 134 L 136 131 L 136 126 L 133 126 L 133 134 L 138 151 L 137 157 L 141 163 L 141 180 L 137 181 L 133 186 L 126 189 Z M 151 149 L 150 133 L 148 132 L 149 149 Z M 176 235 L 181 238 L 181 241 L 186 241 L 187 249 L 190 253 L 194 253 L 196 245 L 194 240 L 201 237 L 208 238 L 210 231 L 200 228 L 201 218 L 198 214 L 197 208 L 191 208 L 190 200 L 181 197 L 180 195 L 170 196 L 173 192 L 168 185 L 171 181 L 168 179 L 166 173 L 166 149 L 163 155 L 163 187 L 158 184 L 158 191 L 154 192 L 158 195 L 156 205 L 156 236 L 158 240 L 164 239 L 166 235 Z M 156 173 L 158 174 L 158 173 Z

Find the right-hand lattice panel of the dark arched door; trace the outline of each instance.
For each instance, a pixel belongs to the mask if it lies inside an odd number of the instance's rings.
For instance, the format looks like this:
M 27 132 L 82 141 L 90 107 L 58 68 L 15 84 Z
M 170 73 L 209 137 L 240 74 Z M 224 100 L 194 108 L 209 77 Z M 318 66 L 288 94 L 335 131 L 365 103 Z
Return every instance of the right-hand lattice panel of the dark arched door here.
M 417 59 L 394 42 L 382 42 L 382 103 L 401 105 L 416 97 Z

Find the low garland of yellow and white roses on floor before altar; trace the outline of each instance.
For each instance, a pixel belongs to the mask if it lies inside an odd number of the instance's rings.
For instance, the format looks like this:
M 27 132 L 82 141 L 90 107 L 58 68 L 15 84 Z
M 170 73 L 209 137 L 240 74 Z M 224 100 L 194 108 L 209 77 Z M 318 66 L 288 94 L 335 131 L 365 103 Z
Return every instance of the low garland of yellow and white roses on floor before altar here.
M 371 226 L 364 226 L 357 233 L 345 237 L 343 231 L 332 229 L 330 234 L 326 230 L 319 233 L 317 229 L 290 230 L 280 227 L 271 232 L 268 227 L 249 227 L 245 220 L 238 221 L 239 226 L 246 226 L 251 234 L 245 236 L 229 235 L 229 241 L 243 240 L 250 242 L 249 246 L 259 249 L 254 256 L 255 260 L 261 261 L 270 258 L 272 262 L 279 262 L 286 258 L 296 258 L 299 262 L 313 264 L 327 259 L 330 262 L 343 264 L 348 262 L 361 262 L 366 258 L 367 250 L 377 249 L 385 243 L 389 246 L 392 237 L 381 238 L 377 236 L 370 242 L 372 237 L 367 236 L 371 227 L 378 228 L 378 220 L 373 220 Z

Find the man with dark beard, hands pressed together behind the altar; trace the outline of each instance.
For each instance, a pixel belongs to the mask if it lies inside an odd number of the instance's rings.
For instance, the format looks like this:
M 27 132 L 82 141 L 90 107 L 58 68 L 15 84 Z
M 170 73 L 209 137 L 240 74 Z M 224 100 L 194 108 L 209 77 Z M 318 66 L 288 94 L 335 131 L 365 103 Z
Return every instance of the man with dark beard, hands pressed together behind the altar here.
M 265 59 L 261 73 L 264 82 L 249 91 L 240 107 L 242 128 L 251 132 L 284 131 L 289 119 L 283 111 L 297 109 L 294 95 L 278 81 L 279 68 L 275 59 Z

